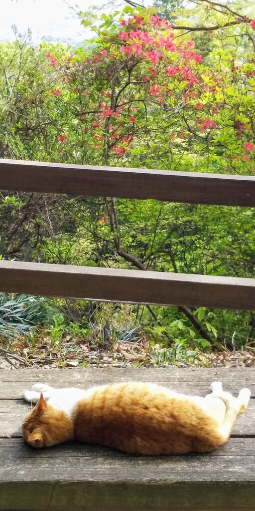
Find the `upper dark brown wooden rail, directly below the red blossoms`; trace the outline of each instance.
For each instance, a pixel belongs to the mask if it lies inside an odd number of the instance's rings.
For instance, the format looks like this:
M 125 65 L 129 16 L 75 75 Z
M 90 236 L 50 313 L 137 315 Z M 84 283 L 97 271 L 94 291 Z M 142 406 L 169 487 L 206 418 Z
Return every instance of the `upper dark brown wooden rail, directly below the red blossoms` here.
M 0 159 L 0 190 L 255 206 L 255 177 Z

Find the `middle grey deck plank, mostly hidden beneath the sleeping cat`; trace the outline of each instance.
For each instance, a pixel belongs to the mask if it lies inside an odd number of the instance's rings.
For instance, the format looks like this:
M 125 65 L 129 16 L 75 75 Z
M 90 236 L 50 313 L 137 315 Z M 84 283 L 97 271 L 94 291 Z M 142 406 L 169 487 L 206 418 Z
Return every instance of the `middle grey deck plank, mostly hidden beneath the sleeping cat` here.
M 190 393 L 202 394 L 196 384 L 190 385 Z M 86 386 L 84 386 L 86 388 Z M 20 437 L 21 423 L 29 412 L 30 405 L 22 400 L 0 400 L 0 438 L 7 436 Z M 232 436 L 255 437 L 255 400 L 252 399 L 245 413 L 240 415 L 232 431 Z

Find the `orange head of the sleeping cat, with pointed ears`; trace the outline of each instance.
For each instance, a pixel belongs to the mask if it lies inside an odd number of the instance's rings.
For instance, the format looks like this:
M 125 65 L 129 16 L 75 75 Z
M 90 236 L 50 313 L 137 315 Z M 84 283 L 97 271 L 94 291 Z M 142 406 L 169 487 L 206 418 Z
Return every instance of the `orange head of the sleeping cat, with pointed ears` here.
M 72 422 L 66 413 L 49 405 L 41 394 L 37 405 L 25 416 L 22 435 L 32 447 L 50 447 L 72 438 Z

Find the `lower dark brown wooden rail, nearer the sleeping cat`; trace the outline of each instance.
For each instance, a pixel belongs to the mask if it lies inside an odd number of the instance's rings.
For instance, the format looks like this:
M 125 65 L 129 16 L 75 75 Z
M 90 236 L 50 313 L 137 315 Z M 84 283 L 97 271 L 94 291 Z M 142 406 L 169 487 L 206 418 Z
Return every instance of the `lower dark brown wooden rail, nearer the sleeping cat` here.
M 0 261 L 0 291 L 255 310 L 255 279 Z

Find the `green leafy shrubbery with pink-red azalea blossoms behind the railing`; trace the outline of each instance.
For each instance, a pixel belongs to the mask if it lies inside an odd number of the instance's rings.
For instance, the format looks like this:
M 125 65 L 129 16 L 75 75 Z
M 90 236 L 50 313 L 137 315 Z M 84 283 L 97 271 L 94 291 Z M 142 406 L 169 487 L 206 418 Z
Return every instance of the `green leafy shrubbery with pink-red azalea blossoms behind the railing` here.
M 227 32 L 208 31 L 204 52 L 198 35 L 152 8 L 81 16 L 96 36 L 75 51 L 0 44 L 2 157 L 254 175 L 254 19 L 228 12 Z M 254 277 L 250 208 L 34 194 L 0 207 L 5 258 Z M 135 315 L 202 347 L 234 331 L 243 344 L 254 330 L 246 312 Z

